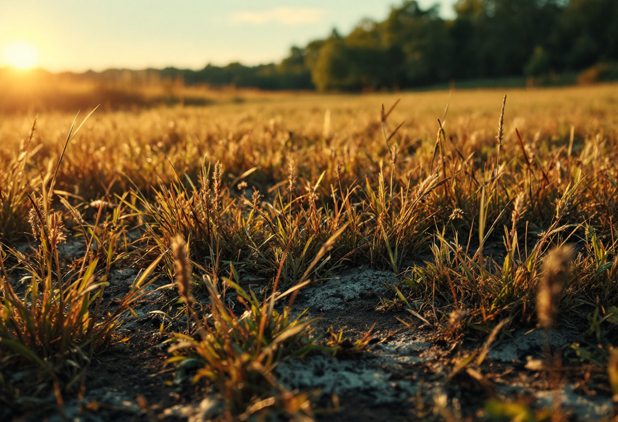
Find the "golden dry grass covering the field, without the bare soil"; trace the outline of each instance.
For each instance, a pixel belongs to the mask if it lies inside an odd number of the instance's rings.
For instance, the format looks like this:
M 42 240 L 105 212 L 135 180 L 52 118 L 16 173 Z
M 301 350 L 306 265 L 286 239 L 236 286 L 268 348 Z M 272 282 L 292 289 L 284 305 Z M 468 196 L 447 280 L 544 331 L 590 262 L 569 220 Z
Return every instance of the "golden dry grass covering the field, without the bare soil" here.
M 559 315 L 599 344 L 616 344 L 618 85 L 513 90 L 506 106 L 503 94 L 251 94 L 243 104 L 97 112 L 74 137 L 71 118 L 50 112 L 30 141 L 25 117 L 3 118 L 0 241 L 11 265 L 0 350 L 26 347 L 32 360 L 107 339 L 133 300 L 99 322 L 110 268 L 122 259 L 148 267 L 156 257 L 194 323 L 174 335 L 171 362 L 218 386 L 230 418 L 266 408 L 310 417 L 307 397 L 278 386 L 271 367 L 310 349 L 365 349 L 370 337 L 334 331 L 318 347 L 311 321 L 292 320 L 289 306 L 273 310 L 277 289 L 328 279 L 343 265 L 393 271 L 399 283 L 383 310 L 405 307 L 455 340 L 469 327 L 493 329 L 493 341 L 503 326 L 535 326 L 540 285 L 560 290 L 539 299 L 543 325 Z M 22 254 L 15 247 L 33 241 L 23 234 L 35 204 L 28 194 L 46 205 L 41 217 L 34 207 L 40 246 Z M 77 273 L 62 276 L 44 237 L 52 233 L 86 241 Z M 548 287 L 545 256 L 563 245 L 574 260 L 561 260 L 565 276 Z M 11 286 L 23 271 L 32 279 L 21 299 Z M 247 292 L 245 277 L 259 291 Z M 232 290 L 243 316 L 226 302 Z M 210 302 L 195 303 L 192 291 Z M 65 317 L 74 305 L 89 321 L 79 329 Z M 20 337 L 25 327 L 35 343 Z

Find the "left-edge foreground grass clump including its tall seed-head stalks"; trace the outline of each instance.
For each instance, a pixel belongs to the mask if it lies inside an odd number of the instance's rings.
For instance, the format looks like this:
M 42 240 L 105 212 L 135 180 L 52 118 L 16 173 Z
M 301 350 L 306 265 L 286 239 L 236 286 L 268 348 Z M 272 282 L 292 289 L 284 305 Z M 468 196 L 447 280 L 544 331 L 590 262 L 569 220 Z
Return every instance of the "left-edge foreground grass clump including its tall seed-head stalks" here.
M 160 260 L 135 279 L 114 310 L 102 315 L 109 265 L 97 270 L 95 257 L 88 264 L 82 260 L 76 271 L 62 267 L 58 246 L 66 241 L 67 233 L 61 213 L 51 205 L 54 181 L 55 173 L 50 173 L 43 178 L 40 196 L 35 199 L 27 194 L 32 205 L 32 234 L 38 242 L 35 252 L 27 257 L 15 249 L 5 251 L 0 244 L 0 366 L 7 374 L 8 368 L 10 372 L 34 370 L 19 388 L 6 385 L 7 379 L 0 380 L 5 384 L 2 398 L 10 407 L 19 405 L 12 400 L 15 394 L 41 394 L 48 391 L 49 384 L 62 407 L 62 389 L 71 389 L 83 378 L 93 352 L 111 339 L 123 316 L 143 297 L 142 288 L 153 281 L 148 278 Z M 94 233 L 85 239 L 87 256 L 93 238 Z M 7 252 L 18 262 L 12 271 L 5 265 Z M 106 254 L 109 263 L 114 249 L 110 247 Z M 19 273 L 25 273 L 22 282 L 26 287 L 16 291 L 15 276 Z

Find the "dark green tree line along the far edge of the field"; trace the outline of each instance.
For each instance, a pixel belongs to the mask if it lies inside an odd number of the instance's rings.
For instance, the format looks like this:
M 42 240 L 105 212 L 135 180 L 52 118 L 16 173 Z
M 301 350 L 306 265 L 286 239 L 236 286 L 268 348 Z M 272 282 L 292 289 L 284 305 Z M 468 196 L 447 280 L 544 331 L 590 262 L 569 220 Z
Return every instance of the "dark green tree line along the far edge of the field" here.
M 362 91 L 552 78 L 593 65 L 618 73 L 618 0 L 459 0 L 454 9 L 446 20 L 438 6 L 405 0 L 383 22 L 365 19 L 347 36 L 333 30 L 292 47 L 278 64 L 167 68 L 161 75 L 186 85 Z

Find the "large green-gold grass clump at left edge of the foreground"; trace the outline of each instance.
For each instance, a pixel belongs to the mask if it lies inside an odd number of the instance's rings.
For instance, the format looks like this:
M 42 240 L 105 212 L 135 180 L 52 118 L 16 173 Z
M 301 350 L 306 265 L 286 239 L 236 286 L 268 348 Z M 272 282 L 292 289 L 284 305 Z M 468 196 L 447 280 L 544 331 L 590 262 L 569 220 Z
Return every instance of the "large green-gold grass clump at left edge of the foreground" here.
M 111 339 L 125 313 L 143 297 L 142 288 L 153 281 L 147 280 L 158 260 L 135 279 L 116 309 L 100 315 L 103 292 L 109 284 L 108 271 L 96 271 L 95 259 L 77 273 L 63 276 L 56 259 L 57 241 L 63 236 L 61 225 L 57 218 L 46 220 L 48 225 L 41 228 L 50 233 L 50 242 L 41 242 L 34 257 L 37 266 L 25 263 L 29 283 L 23 294 L 15 292 L 4 259 L 0 259 L 0 354 L 2 364 L 12 366 L 12 370 L 20 365 L 38 368 L 34 382 L 29 380 L 32 384 L 27 388 L 41 391 L 41 385 L 53 381 L 61 405 L 61 381 L 67 389 L 75 386 L 91 354 Z M 12 252 L 18 259 L 23 258 L 19 252 Z

